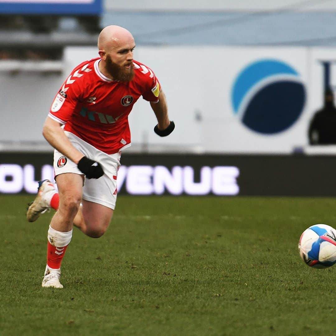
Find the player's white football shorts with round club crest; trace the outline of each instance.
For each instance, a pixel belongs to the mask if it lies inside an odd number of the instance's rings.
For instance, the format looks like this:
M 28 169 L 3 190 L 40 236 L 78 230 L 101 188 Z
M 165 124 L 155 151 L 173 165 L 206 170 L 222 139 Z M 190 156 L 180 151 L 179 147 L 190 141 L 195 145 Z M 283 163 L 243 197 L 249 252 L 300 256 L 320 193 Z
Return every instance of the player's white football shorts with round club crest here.
M 114 210 L 117 201 L 117 172 L 120 166 L 121 152 L 106 154 L 74 134 L 65 131 L 71 144 L 91 160 L 101 164 L 104 175 L 99 179 L 86 179 L 83 187 L 83 199 L 102 204 Z M 54 150 L 55 177 L 64 173 L 83 175 L 77 164 Z

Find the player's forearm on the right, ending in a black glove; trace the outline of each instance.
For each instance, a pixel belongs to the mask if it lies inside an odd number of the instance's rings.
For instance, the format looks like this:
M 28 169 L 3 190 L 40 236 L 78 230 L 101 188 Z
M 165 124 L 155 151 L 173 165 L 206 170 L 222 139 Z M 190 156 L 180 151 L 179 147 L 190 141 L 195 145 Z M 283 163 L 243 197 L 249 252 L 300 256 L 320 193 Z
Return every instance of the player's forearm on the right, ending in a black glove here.
M 168 118 L 168 107 L 166 96 L 161 90 L 159 94 L 159 101 L 157 103 L 151 102 L 151 107 L 155 113 L 158 124 L 154 128 L 154 132 L 161 137 L 165 137 L 173 132 L 175 124 Z

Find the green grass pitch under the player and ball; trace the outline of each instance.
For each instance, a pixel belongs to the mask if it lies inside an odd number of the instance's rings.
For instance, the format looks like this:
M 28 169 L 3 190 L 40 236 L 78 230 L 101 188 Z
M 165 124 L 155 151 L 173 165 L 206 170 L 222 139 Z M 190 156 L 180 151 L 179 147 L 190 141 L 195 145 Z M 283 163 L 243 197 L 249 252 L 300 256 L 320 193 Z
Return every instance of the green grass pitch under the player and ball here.
M 52 213 L 0 196 L 0 335 L 335 335 L 336 266 L 300 259 L 332 198 L 118 197 L 107 233 L 74 229 L 64 289 L 41 288 Z

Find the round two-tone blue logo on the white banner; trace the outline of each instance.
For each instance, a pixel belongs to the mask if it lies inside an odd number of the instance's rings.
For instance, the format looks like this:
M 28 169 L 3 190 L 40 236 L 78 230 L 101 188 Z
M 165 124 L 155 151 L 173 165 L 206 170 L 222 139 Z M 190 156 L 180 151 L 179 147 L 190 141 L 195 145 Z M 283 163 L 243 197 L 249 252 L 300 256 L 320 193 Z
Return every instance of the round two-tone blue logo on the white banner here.
M 275 134 L 291 127 L 305 103 L 299 74 L 288 64 L 261 60 L 245 67 L 232 88 L 234 113 L 249 129 Z

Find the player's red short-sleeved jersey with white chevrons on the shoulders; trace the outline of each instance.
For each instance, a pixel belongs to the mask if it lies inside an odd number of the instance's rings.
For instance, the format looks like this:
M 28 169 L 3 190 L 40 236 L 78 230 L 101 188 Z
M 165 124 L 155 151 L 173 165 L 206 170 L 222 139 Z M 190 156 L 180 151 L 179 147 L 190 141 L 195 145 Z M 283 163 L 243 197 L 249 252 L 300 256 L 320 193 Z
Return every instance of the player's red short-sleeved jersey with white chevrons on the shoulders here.
M 78 65 L 57 93 L 49 117 L 95 148 L 113 154 L 131 146 L 128 115 L 140 96 L 157 103 L 161 90 L 154 72 L 134 61 L 134 77 L 119 82 L 104 76 L 100 58 Z

